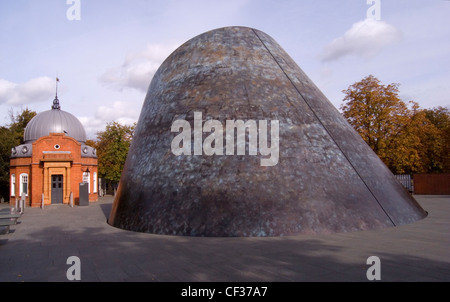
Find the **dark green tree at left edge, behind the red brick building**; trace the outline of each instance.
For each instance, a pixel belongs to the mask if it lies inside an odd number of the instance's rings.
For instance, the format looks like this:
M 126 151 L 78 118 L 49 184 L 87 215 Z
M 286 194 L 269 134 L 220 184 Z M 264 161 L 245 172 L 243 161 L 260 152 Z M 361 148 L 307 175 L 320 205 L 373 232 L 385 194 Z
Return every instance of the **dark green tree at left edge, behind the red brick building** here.
M 24 143 L 24 131 L 36 112 L 26 108 L 19 115 L 10 112 L 11 124 L 0 127 L 0 198 L 9 200 L 11 149 Z

